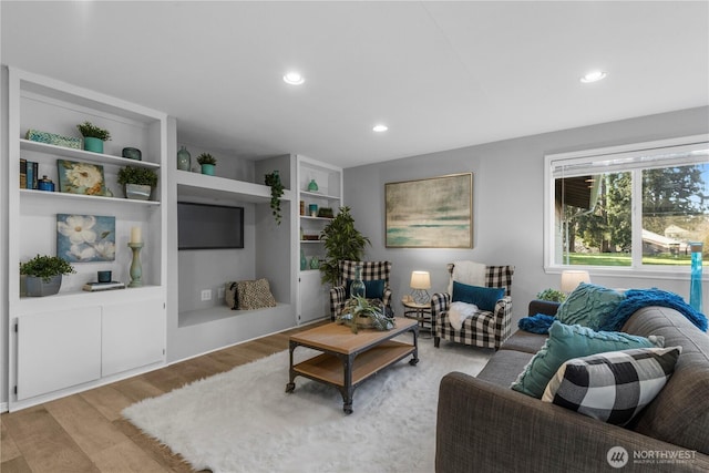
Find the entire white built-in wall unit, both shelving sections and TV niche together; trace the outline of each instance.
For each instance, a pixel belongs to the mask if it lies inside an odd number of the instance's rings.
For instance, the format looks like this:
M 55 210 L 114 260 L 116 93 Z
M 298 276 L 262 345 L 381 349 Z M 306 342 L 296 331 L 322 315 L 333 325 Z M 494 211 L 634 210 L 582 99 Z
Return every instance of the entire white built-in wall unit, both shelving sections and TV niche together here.
M 245 340 L 329 316 L 328 287 L 320 271 L 300 270 L 300 250 L 325 256 L 319 234 L 329 218 L 300 215 L 305 205 L 342 205 L 341 169 L 287 154 L 246 161 L 226 156 L 217 176 L 176 168 L 177 121 L 162 112 L 94 91 L 21 71 L 8 70 L 8 392 L 9 410 L 22 409 L 127 378 Z M 104 153 L 25 140 L 28 130 L 78 136 L 90 121 L 111 132 Z M 3 132 L 4 132 L 3 130 Z M 142 151 L 142 161 L 122 157 L 123 147 Z M 198 146 L 199 147 L 199 146 Z M 205 151 L 208 145 L 201 146 Z M 194 154 L 197 154 L 196 152 Z M 38 163 L 39 175 L 59 191 L 58 161 L 102 166 L 105 195 L 80 195 L 20 188 L 20 160 Z M 195 156 L 193 156 L 193 160 Z M 233 161 L 234 160 L 234 161 Z M 126 165 L 158 174 L 148 200 L 124 198 L 116 178 Z M 229 167 L 230 166 L 230 167 Z M 285 186 L 282 220 L 277 225 L 264 175 L 278 171 Z M 16 177 L 17 176 L 17 177 Z M 309 192 L 316 179 L 319 189 Z M 177 203 L 244 207 L 242 249 L 177 249 Z M 74 263 L 54 296 L 25 297 L 18 267 L 35 255 L 56 255 L 58 214 L 115 217 L 115 260 Z M 141 227 L 143 286 L 88 292 L 97 270 L 131 281 L 133 227 Z M 222 289 L 228 280 L 267 278 L 277 306 L 229 310 Z M 214 298 L 199 301 L 209 289 Z

